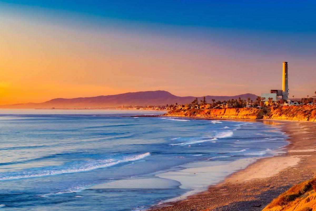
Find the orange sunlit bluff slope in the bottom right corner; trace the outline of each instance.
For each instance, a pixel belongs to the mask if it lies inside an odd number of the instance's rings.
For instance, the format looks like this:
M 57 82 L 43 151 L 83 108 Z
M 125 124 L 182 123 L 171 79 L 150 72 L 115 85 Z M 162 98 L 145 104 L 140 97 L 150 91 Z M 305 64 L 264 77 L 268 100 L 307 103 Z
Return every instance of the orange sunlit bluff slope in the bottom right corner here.
M 262 211 L 316 211 L 316 179 L 293 186 Z

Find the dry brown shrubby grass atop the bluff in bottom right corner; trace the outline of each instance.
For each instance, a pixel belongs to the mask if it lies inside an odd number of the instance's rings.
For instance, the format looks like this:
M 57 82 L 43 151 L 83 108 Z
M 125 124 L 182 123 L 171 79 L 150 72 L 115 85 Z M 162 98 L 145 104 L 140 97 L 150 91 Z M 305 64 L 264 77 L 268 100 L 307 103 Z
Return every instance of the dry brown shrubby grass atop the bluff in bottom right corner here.
M 304 195 L 306 192 L 311 190 L 316 191 L 316 178 L 307 180 L 305 182 L 293 186 L 289 190 L 279 195 L 276 199 L 274 199 L 267 206 L 267 208 L 288 205 L 290 202 L 294 201 L 295 199 L 299 198 L 300 196 Z M 306 208 L 306 210 L 308 211 L 309 208 Z

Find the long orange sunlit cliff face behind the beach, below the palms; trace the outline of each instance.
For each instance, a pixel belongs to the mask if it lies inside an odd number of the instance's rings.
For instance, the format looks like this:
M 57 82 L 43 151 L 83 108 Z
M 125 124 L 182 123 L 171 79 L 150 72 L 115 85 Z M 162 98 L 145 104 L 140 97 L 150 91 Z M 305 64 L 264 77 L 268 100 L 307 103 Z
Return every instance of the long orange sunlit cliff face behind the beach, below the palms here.
M 227 108 L 227 109 L 177 109 L 165 116 L 228 118 L 228 119 L 276 119 L 316 121 L 316 106 L 280 106 L 269 108 Z

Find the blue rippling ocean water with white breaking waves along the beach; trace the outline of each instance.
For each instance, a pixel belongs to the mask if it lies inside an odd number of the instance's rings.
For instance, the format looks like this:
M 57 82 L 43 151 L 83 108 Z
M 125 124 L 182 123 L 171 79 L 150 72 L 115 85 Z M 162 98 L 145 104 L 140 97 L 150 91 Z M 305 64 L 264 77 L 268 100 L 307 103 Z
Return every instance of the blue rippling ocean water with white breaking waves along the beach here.
M 0 110 L 0 209 L 141 210 L 190 191 L 159 173 L 287 145 L 262 122 L 130 116 L 161 113 Z

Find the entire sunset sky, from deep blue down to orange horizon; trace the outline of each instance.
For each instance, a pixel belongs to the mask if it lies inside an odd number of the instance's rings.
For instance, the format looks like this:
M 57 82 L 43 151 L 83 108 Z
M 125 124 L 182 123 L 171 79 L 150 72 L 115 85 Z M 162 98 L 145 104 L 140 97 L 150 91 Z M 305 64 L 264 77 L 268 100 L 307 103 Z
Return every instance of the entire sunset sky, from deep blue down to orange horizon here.
M 0 104 L 316 91 L 315 1 L 0 0 Z

